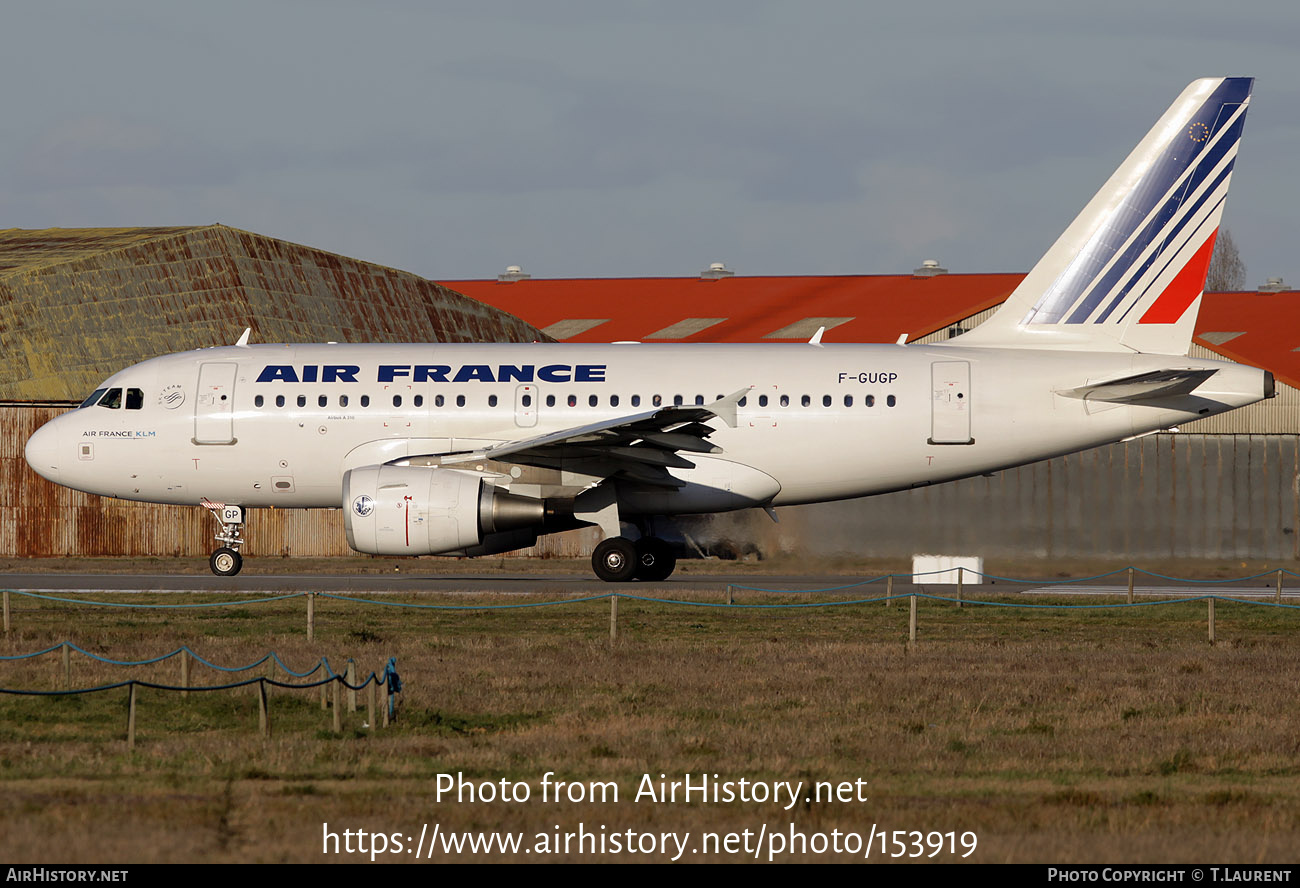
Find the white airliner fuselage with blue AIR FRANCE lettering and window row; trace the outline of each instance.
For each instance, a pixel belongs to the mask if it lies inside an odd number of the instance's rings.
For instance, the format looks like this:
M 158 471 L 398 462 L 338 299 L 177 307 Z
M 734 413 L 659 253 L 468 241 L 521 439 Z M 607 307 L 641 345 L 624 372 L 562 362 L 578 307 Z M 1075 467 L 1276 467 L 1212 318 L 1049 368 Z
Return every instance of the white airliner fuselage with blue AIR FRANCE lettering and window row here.
M 1060 394 L 1170 367 L 1218 372 L 1166 402 Z M 101 387 L 139 395 L 32 436 L 27 458 L 43 476 L 122 499 L 292 508 L 339 507 L 343 475 L 360 465 L 750 389 L 734 428 L 708 421 L 720 452 L 682 454 L 696 468 L 671 469 L 685 488 L 620 491 L 625 514 L 659 515 L 928 485 L 1266 395 L 1262 371 L 1223 361 L 959 345 L 231 346 L 147 360 Z

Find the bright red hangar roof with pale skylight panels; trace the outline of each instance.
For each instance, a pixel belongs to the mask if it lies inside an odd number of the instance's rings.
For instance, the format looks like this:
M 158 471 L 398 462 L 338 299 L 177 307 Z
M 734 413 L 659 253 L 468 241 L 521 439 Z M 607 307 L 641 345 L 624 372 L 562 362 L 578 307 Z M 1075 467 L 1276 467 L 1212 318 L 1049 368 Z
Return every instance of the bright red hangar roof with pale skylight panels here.
M 1023 274 L 441 281 L 564 342 L 913 342 L 1001 304 Z M 1300 291 L 1206 293 L 1195 341 L 1300 387 Z

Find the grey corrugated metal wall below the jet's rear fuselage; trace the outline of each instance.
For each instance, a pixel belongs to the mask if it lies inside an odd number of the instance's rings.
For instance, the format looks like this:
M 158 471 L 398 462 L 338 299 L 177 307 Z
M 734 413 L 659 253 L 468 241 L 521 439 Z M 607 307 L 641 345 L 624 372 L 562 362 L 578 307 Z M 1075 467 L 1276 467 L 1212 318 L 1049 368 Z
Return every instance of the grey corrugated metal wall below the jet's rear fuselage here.
M 1148 436 L 993 477 L 780 510 L 768 545 L 863 556 L 1297 559 L 1297 478 L 1300 436 Z

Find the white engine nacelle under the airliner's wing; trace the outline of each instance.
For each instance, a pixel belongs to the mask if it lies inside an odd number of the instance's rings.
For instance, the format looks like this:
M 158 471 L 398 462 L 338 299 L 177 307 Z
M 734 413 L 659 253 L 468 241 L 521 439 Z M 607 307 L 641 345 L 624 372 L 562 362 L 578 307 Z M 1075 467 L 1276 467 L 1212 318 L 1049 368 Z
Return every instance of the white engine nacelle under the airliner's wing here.
M 507 530 L 540 527 L 545 517 L 541 499 L 499 490 L 481 475 L 416 465 L 346 472 L 343 511 L 347 545 L 370 555 L 473 550 L 485 538 L 504 542 Z

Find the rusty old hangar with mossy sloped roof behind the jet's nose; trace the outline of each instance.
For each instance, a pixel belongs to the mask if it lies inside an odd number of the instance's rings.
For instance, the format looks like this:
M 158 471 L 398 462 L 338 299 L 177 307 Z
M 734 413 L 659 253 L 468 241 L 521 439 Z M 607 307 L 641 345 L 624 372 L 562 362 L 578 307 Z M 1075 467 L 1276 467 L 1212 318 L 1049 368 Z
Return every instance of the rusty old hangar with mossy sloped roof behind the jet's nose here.
M 207 555 L 202 508 L 57 488 L 27 437 L 148 358 L 259 342 L 532 342 L 547 337 L 416 274 L 225 225 L 0 230 L 0 555 Z M 259 512 L 250 551 L 350 551 L 333 511 Z

